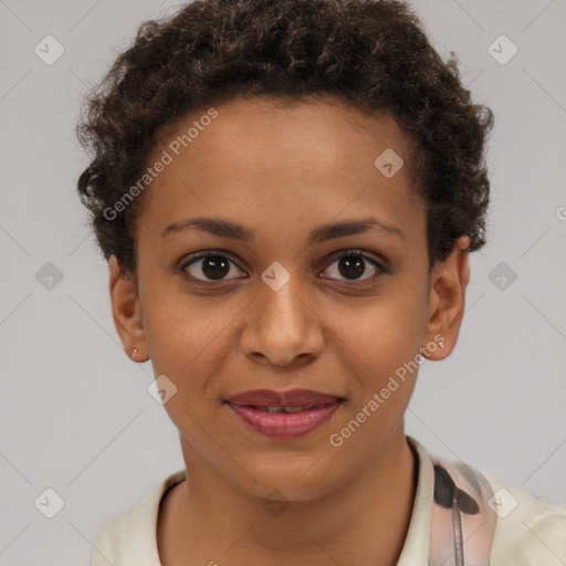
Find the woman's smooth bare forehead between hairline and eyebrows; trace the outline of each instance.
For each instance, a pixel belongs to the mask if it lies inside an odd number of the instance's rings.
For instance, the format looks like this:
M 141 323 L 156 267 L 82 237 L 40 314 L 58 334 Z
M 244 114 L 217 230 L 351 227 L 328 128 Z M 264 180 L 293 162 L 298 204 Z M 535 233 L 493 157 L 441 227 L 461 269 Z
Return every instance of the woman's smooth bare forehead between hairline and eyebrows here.
M 319 223 L 368 212 L 422 228 L 409 139 L 392 116 L 328 98 L 238 98 L 203 119 L 208 111 L 159 133 L 149 164 L 164 151 L 170 163 L 151 181 L 150 206 L 142 211 L 153 230 L 202 214 L 311 228 L 313 218 Z

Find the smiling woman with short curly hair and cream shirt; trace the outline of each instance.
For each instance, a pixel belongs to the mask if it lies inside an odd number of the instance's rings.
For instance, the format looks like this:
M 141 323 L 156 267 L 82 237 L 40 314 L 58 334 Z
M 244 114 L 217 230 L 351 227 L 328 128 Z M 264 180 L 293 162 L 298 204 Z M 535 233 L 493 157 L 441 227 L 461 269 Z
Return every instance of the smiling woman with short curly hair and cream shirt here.
M 140 27 L 78 126 L 78 190 L 186 469 L 93 566 L 566 560 L 566 509 L 403 432 L 419 366 L 457 344 L 492 124 L 400 2 Z

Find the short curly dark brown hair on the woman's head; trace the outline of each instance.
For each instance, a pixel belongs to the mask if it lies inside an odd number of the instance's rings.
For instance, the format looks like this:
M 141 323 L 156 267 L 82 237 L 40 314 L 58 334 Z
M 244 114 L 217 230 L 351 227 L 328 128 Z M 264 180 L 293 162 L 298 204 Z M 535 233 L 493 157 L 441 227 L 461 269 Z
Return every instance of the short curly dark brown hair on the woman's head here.
M 493 113 L 472 104 L 454 53 L 447 63 L 418 18 L 386 0 L 197 0 L 144 22 L 133 44 L 86 97 L 76 134 L 93 154 L 78 178 L 106 260 L 137 283 L 140 198 L 105 210 L 147 167 L 157 132 L 237 96 L 298 101 L 331 95 L 390 113 L 409 135 L 410 170 L 427 208 L 429 265 L 461 235 L 485 244 L 490 181 L 484 163 Z

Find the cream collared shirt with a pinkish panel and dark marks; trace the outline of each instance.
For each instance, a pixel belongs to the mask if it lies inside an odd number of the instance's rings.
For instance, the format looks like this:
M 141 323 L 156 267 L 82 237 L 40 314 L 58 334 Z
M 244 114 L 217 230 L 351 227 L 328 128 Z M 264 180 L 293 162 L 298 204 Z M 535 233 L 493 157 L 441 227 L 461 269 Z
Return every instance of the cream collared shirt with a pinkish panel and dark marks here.
M 473 468 L 441 460 L 411 437 L 418 481 L 398 566 L 565 566 L 566 507 Z M 161 566 L 157 513 L 179 470 L 107 522 L 92 566 Z

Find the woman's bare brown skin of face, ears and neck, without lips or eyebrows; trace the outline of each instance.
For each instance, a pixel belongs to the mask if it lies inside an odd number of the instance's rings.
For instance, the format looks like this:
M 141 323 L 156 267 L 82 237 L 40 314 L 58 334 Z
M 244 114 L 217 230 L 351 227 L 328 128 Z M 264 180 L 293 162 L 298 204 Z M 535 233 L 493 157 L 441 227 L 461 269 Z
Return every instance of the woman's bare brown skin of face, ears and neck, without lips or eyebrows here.
M 408 138 L 391 116 L 369 117 L 324 97 L 287 106 L 232 99 L 217 111 L 144 195 L 135 234 L 138 295 L 116 259 L 109 262 L 125 350 L 137 348 L 136 361 L 150 359 L 155 375 L 178 388 L 165 409 L 189 478 L 161 502 L 161 563 L 394 565 L 417 482 L 403 432 L 417 371 L 339 448 L 329 436 L 420 348 L 429 359 L 450 355 L 464 311 L 468 240 L 429 271 Z M 154 157 L 203 114 L 165 128 Z M 392 178 L 374 166 L 386 148 L 405 159 Z M 306 243 L 322 223 L 370 216 L 403 237 L 370 229 Z M 160 237 L 171 222 L 195 217 L 239 222 L 255 241 L 195 228 Z M 357 276 L 340 270 L 334 255 L 352 249 L 385 260 L 388 271 L 368 261 Z M 203 261 L 182 272 L 206 250 L 232 261 L 223 281 L 211 280 Z M 261 279 L 274 261 L 291 275 L 277 291 Z M 356 279 L 365 284 L 354 286 Z M 436 335 L 443 348 L 429 352 Z M 260 388 L 307 388 L 346 401 L 307 437 L 275 441 L 221 402 Z M 265 500 L 290 504 L 274 515 Z

